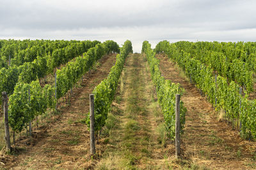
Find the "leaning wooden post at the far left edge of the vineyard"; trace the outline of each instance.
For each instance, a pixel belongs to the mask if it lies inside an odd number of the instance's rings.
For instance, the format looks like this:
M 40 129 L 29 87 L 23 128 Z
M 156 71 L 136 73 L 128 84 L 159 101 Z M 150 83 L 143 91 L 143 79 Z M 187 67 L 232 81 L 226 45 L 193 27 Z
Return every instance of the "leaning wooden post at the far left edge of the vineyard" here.
M 12 151 L 11 141 L 10 141 L 10 131 L 9 131 L 9 120 L 8 120 L 8 101 L 7 101 L 7 93 L 2 92 L 3 96 L 3 105 L 4 105 L 4 129 L 5 129 L 5 141 L 6 141 L 6 149 L 8 152 Z

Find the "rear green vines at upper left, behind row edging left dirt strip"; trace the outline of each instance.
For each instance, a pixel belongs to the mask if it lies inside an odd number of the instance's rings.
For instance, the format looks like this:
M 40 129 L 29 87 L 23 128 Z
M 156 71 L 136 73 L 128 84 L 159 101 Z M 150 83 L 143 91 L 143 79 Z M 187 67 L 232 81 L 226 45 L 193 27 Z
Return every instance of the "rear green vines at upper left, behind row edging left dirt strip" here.
M 14 44 L 14 42 L 12 43 Z M 100 42 L 95 41 L 94 44 L 97 45 L 98 43 Z M 17 51 L 13 48 L 15 54 L 13 54 L 14 57 L 12 55 L 11 67 L 0 69 L 0 89 L 2 92 L 6 91 L 9 96 L 13 93 L 18 81 L 31 83 L 31 81 L 44 78 L 47 74 L 53 73 L 55 67 L 59 67 L 77 55 L 87 52 L 89 48 L 93 47 L 93 43 L 92 41 L 38 40 L 20 46 L 22 48 L 17 47 Z M 31 49 L 34 49 L 33 52 Z M 8 58 L 4 60 L 8 60 Z

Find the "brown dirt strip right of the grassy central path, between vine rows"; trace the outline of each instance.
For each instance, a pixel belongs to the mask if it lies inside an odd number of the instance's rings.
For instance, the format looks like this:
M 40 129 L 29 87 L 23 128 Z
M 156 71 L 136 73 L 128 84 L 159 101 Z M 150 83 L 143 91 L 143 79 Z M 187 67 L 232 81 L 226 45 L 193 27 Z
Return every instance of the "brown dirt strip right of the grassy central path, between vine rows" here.
M 200 169 L 256 169 L 256 143 L 244 141 L 227 122 L 221 122 L 206 97 L 189 83 L 168 57 L 157 55 L 164 78 L 186 90 L 182 96 L 188 109 L 182 135 L 182 157 Z

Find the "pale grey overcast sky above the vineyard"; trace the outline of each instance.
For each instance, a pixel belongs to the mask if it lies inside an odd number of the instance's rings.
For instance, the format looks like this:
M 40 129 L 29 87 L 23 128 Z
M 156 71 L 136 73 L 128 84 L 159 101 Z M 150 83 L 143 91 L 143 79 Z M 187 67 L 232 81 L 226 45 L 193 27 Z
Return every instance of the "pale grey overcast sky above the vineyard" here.
M 0 39 L 256 41 L 256 1 L 0 0 Z

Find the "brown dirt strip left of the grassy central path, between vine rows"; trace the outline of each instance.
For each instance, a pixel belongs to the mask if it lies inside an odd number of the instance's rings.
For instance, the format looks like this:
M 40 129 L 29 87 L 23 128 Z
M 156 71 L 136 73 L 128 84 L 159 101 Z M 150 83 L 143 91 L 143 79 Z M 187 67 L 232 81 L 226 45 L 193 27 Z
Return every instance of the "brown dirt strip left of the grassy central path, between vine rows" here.
M 34 131 L 31 139 L 22 139 L 22 151 L 6 158 L 5 168 L 13 169 L 81 169 L 90 167 L 90 136 L 85 124 L 89 111 L 88 97 L 93 88 L 108 75 L 115 55 L 104 57 L 78 87 L 70 106 L 61 106 L 60 115 Z M 29 141 L 29 143 L 28 143 Z M 25 143 L 27 146 L 25 145 Z

